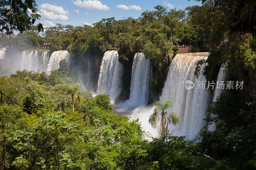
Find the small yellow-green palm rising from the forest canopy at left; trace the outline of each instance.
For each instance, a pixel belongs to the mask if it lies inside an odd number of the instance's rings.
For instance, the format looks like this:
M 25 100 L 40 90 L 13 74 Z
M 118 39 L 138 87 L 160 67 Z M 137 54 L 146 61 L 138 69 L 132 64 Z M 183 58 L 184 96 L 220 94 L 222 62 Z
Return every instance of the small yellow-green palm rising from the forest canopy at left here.
M 74 84 L 69 86 L 68 91 L 66 92 L 66 95 L 69 97 L 68 98 L 68 103 L 71 103 L 72 101 L 72 105 L 73 105 L 73 112 L 74 112 L 74 107 L 75 107 L 75 103 L 81 103 L 83 100 L 83 97 L 81 95 L 79 91 L 79 85 L 78 84 Z

